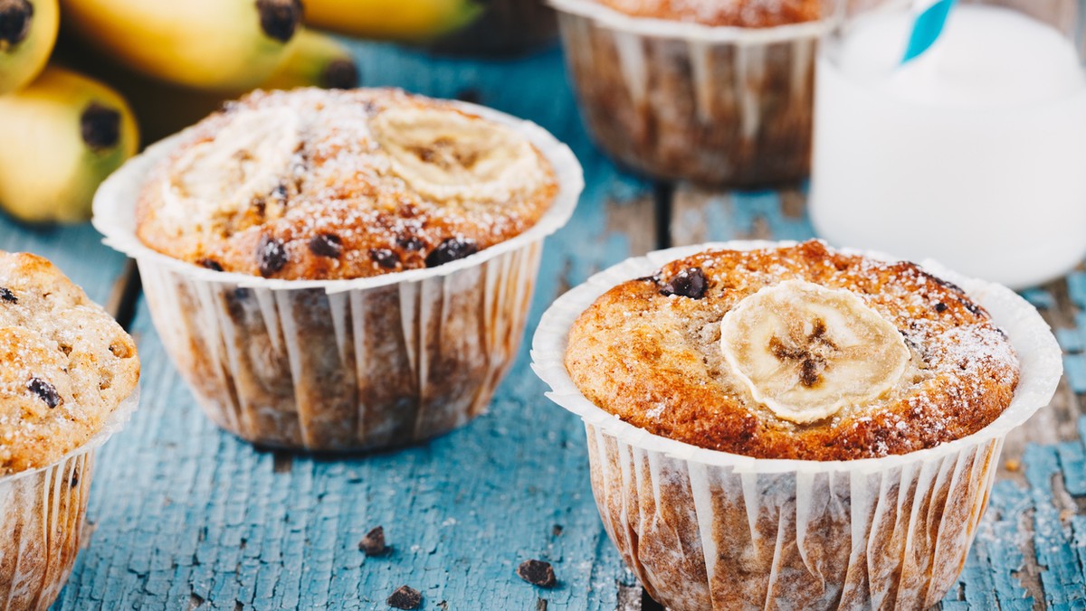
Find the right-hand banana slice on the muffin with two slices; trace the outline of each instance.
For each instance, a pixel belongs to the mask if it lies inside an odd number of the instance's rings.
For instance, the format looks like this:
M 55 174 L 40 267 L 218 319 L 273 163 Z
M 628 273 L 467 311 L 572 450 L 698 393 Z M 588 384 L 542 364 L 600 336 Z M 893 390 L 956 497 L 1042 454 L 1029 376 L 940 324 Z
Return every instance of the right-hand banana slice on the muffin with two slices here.
M 392 171 L 418 193 L 501 201 L 539 188 L 539 155 L 521 135 L 452 110 L 389 109 L 370 120 Z

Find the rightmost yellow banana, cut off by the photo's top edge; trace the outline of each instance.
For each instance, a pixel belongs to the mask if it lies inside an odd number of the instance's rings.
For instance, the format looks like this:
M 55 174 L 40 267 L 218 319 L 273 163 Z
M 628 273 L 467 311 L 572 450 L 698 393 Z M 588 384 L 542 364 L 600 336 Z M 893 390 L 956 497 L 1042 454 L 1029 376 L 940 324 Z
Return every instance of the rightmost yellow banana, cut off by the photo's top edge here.
M 387 40 L 426 40 L 483 12 L 477 0 L 305 0 L 305 21 L 321 29 Z

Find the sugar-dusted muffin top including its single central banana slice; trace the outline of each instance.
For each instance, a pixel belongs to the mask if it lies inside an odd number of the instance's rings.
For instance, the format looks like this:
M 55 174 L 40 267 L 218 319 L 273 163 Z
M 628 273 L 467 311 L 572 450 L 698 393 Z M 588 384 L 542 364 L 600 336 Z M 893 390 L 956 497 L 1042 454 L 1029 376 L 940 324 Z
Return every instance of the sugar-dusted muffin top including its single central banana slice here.
M 1007 336 L 961 289 L 817 241 L 707 251 L 613 288 L 570 329 L 566 369 L 654 434 L 805 460 L 972 434 L 1019 380 Z

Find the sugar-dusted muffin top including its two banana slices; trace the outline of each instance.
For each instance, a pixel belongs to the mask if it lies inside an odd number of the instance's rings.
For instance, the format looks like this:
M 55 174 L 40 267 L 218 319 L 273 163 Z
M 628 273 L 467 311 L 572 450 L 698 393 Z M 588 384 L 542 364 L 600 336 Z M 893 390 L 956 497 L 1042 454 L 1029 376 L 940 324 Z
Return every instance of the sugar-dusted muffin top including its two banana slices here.
M 257 91 L 200 122 L 140 193 L 137 234 L 266 278 L 434 267 L 517 236 L 558 191 L 517 130 L 392 89 Z

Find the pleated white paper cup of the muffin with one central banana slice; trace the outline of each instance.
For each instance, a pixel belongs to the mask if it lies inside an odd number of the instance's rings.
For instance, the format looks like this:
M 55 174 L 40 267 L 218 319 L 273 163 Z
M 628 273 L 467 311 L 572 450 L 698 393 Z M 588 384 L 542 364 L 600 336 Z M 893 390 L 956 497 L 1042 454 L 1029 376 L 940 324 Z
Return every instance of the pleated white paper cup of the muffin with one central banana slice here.
M 547 396 L 584 420 L 604 526 L 648 594 L 672 611 L 931 607 L 964 565 L 1003 438 L 1048 404 L 1062 372 L 1048 324 L 1009 289 L 924 264 L 1007 332 L 1020 381 L 988 427 L 899 456 L 779 460 L 695 447 L 604 411 L 566 371 L 570 327 L 616 284 L 707 249 L 779 245 L 670 249 L 597 273 L 543 315 L 532 368 L 550 384 Z

